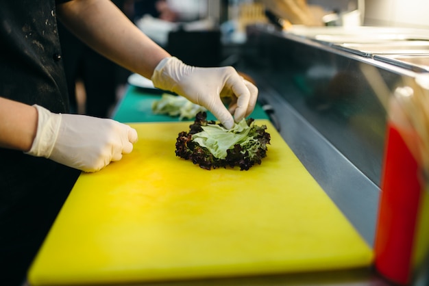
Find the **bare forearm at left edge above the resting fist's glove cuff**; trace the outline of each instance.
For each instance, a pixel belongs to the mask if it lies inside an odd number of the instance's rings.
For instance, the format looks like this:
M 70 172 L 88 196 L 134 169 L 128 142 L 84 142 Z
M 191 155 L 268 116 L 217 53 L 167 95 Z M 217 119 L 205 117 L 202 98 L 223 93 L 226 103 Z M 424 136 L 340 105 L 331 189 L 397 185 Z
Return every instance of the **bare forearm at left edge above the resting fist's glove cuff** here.
M 0 97 L 0 147 L 29 151 L 37 131 L 37 110 Z

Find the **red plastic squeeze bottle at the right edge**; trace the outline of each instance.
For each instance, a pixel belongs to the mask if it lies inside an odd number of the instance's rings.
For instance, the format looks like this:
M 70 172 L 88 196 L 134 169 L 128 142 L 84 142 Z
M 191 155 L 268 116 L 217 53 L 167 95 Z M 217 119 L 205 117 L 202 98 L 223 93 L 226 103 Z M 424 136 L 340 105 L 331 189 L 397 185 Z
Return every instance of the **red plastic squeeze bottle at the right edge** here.
M 375 242 L 376 269 L 400 285 L 413 279 L 419 202 L 424 192 L 419 164 L 404 136 L 413 134 L 388 123 Z

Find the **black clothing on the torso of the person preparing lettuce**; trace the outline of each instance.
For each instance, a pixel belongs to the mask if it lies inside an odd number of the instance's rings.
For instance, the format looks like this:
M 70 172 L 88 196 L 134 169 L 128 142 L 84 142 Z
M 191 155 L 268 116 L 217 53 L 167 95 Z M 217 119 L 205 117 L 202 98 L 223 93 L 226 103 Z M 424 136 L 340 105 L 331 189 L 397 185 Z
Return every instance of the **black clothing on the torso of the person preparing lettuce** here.
M 0 96 L 69 112 L 55 0 L 0 0 Z M 19 285 L 79 170 L 0 148 L 0 285 Z

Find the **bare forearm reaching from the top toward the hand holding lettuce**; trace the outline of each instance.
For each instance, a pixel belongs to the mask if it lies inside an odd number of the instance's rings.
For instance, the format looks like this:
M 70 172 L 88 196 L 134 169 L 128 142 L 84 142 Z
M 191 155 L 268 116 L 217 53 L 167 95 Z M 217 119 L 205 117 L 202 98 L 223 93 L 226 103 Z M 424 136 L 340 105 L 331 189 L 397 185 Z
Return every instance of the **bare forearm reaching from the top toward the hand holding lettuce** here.
M 90 47 L 145 77 L 150 78 L 160 60 L 170 56 L 111 1 L 69 1 L 58 5 L 58 16 Z

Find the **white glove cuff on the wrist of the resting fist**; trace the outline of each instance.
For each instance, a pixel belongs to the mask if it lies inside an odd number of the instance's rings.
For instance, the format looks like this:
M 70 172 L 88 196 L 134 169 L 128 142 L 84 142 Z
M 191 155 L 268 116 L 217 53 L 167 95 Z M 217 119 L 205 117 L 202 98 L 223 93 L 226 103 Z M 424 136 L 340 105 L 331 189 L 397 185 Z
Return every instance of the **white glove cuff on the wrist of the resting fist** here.
M 37 132 L 32 148 L 25 154 L 49 158 L 58 137 L 61 125 L 61 114 L 53 114 L 40 105 L 33 105 L 38 112 Z

